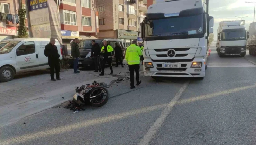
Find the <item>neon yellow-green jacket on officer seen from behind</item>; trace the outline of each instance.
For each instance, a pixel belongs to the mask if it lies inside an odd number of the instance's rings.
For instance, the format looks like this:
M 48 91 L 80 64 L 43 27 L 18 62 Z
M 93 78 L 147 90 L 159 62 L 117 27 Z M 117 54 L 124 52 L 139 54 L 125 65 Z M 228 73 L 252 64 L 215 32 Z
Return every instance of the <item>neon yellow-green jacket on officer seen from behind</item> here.
M 125 53 L 125 59 L 128 62 L 128 65 L 135 65 L 140 63 L 140 56 L 142 56 L 142 52 L 139 46 L 135 44 L 131 44 Z

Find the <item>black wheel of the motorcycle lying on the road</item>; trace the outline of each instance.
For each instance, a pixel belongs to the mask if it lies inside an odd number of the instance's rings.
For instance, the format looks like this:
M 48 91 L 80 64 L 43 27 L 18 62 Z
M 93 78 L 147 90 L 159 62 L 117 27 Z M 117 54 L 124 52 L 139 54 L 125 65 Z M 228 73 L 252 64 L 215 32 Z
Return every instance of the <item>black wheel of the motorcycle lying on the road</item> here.
M 98 97 L 90 99 L 90 105 L 93 107 L 101 107 L 108 102 L 109 91 L 105 87 L 95 87 L 91 90 L 89 98 L 98 95 Z

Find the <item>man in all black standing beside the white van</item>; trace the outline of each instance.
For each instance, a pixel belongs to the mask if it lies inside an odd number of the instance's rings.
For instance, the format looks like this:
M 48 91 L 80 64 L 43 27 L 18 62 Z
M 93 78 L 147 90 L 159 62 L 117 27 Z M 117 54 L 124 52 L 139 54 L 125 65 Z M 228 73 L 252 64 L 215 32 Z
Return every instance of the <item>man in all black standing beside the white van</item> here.
M 54 68 L 56 73 L 56 79 L 60 79 L 60 63 L 59 59 L 60 54 L 58 52 L 57 46 L 55 45 L 55 38 L 50 38 L 50 43 L 45 46 L 44 55 L 48 57 L 48 64 L 50 66 L 50 74 L 51 74 L 51 81 L 56 81 L 54 79 Z

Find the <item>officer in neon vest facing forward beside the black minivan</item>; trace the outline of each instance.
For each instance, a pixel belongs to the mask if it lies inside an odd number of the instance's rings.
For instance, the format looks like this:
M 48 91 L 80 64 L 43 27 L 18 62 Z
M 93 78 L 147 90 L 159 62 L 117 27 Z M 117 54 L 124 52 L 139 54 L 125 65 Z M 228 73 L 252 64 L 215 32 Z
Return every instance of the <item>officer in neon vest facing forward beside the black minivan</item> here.
M 106 62 L 108 62 L 108 65 L 110 67 L 110 75 L 113 74 L 113 67 L 112 67 L 112 58 L 114 55 L 114 49 L 111 45 L 108 45 L 107 40 L 103 41 L 104 46 L 101 48 L 101 53 L 103 53 L 103 62 L 102 62 L 102 70 L 101 70 L 101 74 L 100 76 L 104 76 L 104 70 L 105 70 L 105 66 L 106 66 Z

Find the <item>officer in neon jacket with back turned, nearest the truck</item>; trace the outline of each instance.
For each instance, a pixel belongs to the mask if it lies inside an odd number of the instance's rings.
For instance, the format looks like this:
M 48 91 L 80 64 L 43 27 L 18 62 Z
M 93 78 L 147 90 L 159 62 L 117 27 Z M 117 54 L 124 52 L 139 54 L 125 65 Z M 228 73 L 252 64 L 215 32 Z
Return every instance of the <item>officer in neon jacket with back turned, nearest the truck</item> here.
M 131 89 L 135 88 L 134 86 L 134 70 L 136 73 L 136 85 L 141 84 L 141 80 L 139 80 L 139 64 L 140 64 L 140 56 L 142 56 L 142 52 L 139 46 L 136 45 L 136 40 L 132 41 L 132 44 L 127 48 L 125 58 L 128 62 L 128 67 L 130 71 L 130 81 L 131 81 Z

